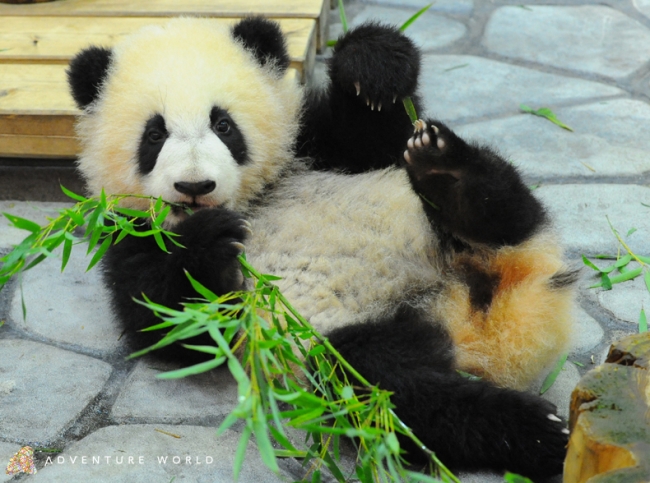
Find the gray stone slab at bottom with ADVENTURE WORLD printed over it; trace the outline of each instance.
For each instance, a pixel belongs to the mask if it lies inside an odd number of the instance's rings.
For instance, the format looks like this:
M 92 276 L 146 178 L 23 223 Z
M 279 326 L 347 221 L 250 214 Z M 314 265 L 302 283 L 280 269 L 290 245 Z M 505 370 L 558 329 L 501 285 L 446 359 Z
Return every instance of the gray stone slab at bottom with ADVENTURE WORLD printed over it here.
M 52 464 L 46 462 L 30 481 L 168 483 L 174 479 L 197 483 L 234 482 L 232 468 L 239 436 L 229 430 L 217 437 L 215 428 L 201 426 L 109 426 L 54 456 Z M 93 457 L 96 458 L 94 462 Z M 263 465 L 257 448 L 249 442 L 239 481 L 279 483 L 285 480 Z M 293 481 L 293 478 L 286 481 Z

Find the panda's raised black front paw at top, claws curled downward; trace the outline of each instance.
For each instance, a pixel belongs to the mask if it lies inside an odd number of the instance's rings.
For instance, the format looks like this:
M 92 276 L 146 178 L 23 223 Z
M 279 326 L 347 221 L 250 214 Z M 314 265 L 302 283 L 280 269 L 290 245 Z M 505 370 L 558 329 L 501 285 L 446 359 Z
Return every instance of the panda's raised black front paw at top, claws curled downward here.
M 420 53 L 396 27 L 366 23 L 339 38 L 329 69 L 338 88 L 381 111 L 414 95 Z

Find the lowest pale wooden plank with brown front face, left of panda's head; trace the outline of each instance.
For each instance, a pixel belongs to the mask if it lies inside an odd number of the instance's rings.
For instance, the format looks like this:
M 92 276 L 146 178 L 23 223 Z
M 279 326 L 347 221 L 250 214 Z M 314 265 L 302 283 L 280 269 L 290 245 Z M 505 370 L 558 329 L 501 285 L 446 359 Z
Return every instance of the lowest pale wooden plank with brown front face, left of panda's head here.
M 65 65 L 0 64 L 0 157 L 73 158 L 80 111 L 68 91 Z M 287 76 L 299 80 L 289 69 Z

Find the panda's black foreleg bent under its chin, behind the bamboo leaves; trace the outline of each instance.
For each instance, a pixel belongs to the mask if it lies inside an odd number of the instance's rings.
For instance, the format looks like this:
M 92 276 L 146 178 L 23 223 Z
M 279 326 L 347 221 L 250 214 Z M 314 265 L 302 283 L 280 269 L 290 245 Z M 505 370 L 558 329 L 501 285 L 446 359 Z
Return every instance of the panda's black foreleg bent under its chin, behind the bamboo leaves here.
M 148 229 L 146 223 L 143 230 Z M 135 349 L 158 342 L 162 331 L 139 332 L 160 322 L 146 307 L 133 301 L 150 300 L 171 308 L 198 297 L 185 271 L 217 295 L 241 290 L 243 277 L 237 256 L 242 251 L 248 228 L 241 215 L 225 209 L 204 209 L 178 223 L 172 231 L 185 248 L 166 243 L 169 253 L 152 236 L 127 236 L 112 246 L 102 260 L 106 286 L 112 295 L 114 310 Z M 203 343 L 210 343 L 207 336 Z M 192 343 L 198 343 L 193 341 Z M 170 358 L 179 358 L 175 348 L 167 349 Z M 180 358 L 190 360 L 193 351 L 182 350 Z

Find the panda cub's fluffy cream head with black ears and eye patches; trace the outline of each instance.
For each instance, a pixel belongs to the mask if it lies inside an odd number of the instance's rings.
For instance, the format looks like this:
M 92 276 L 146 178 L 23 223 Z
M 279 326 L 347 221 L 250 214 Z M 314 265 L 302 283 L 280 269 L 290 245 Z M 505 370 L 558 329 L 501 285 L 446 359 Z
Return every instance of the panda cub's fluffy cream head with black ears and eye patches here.
M 277 24 L 261 18 L 178 18 L 82 51 L 68 79 L 90 194 L 245 208 L 292 159 L 301 91 L 288 64 Z

